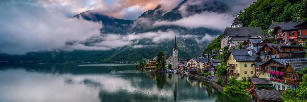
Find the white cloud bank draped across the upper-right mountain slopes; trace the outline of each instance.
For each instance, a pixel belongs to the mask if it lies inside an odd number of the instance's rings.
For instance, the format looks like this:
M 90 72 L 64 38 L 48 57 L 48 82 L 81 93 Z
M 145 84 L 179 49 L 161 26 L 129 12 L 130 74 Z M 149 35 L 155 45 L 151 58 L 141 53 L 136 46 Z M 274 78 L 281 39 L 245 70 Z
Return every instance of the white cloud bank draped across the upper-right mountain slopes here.
M 244 10 L 256 0 L 189 0 L 178 9 L 183 19 L 177 21 L 156 21 L 153 25 L 178 25 L 189 29 L 193 28 L 210 28 L 223 31 L 225 27 L 229 27 L 232 20 L 236 17 L 240 10 Z M 189 10 L 197 7 L 196 10 L 206 10 L 202 13 L 193 14 Z

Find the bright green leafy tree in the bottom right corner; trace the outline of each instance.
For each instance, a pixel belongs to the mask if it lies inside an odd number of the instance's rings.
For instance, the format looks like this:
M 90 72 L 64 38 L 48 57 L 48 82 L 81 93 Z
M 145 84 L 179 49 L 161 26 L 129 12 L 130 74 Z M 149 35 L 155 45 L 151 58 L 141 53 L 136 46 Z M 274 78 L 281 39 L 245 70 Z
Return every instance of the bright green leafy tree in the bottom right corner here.
M 307 101 L 307 67 L 303 68 L 300 74 L 304 74 L 302 82 L 295 90 L 287 89 L 282 93 L 282 100 L 284 101 Z

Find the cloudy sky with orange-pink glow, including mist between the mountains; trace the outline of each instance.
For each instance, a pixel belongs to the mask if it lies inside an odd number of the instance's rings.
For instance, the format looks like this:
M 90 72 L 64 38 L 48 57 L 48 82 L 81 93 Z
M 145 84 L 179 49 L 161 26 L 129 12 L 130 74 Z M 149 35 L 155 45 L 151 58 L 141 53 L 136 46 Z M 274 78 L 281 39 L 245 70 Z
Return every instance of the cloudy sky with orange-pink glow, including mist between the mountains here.
M 210 1 L 214 0 L 189 0 L 194 5 Z M 186 16 L 186 6 L 183 5 L 180 8 L 183 19 L 171 22 L 150 22 L 148 25 L 171 24 L 188 29 L 204 27 L 223 31 L 240 10 L 244 10 L 255 2 L 255 0 L 216 1 L 228 5 L 229 10 L 224 13 L 202 12 Z M 162 5 L 160 10 L 168 12 L 181 2 L 182 0 L 2 0 L 0 1 L 0 26 L 2 27 L 0 28 L 0 53 L 24 55 L 28 52 L 50 50 L 110 50 L 134 45 L 141 39 L 151 39 L 156 43 L 172 40 L 173 34 L 176 33 L 174 31 L 128 35 L 101 34 L 99 30 L 103 28 L 101 24 L 103 22 L 71 17 L 91 10 L 95 13 L 132 20 L 137 19 L 147 10 L 155 9 L 158 4 Z M 195 37 L 195 35 L 182 35 L 182 37 L 186 36 Z M 201 39 L 195 40 L 211 41 L 215 37 L 217 36 L 206 34 Z M 92 39 L 99 39 L 101 42 L 85 44 Z M 133 47 L 143 46 L 134 45 Z

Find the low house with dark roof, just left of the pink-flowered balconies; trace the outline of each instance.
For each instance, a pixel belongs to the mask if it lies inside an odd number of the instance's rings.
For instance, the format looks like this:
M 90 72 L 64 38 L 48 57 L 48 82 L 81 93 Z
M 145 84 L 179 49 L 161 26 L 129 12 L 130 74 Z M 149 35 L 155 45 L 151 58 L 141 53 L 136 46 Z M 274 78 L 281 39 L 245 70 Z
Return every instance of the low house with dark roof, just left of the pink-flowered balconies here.
M 273 86 L 273 84 L 270 82 L 269 79 L 264 79 L 264 78 L 251 78 L 250 80 L 251 87 L 253 89 L 267 89 L 271 90 L 270 86 Z M 262 86 L 267 86 L 267 87 L 262 87 Z

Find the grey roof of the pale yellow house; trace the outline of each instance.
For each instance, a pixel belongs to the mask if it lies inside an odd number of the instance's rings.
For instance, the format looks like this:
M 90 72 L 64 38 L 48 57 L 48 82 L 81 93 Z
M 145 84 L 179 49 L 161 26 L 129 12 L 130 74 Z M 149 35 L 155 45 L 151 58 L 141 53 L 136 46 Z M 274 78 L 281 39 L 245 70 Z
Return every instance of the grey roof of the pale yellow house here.
M 248 54 L 249 49 L 230 49 L 230 53 L 233 55 L 236 61 L 256 61 L 260 62 L 261 59 L 256 55 L 256 51 L 252 49 L 252 56 Z

